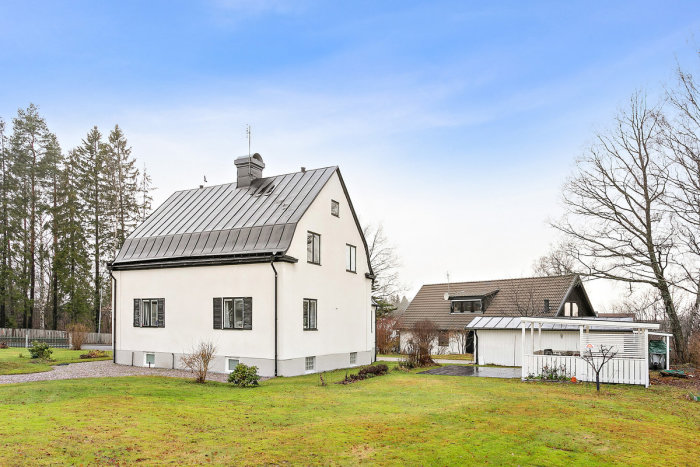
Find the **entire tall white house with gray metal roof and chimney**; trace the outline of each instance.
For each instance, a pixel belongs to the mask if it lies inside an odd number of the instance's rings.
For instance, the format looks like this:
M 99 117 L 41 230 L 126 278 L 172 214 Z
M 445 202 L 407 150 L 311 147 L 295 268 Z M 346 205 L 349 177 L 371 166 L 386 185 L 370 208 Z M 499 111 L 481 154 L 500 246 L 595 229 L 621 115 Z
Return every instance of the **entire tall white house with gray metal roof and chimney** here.
M 374 358 L 372 269 L 337 167 L 178 191 L 111 264 L 114 359 L 181 368 L 211 341 L 214 372 L 291 376 Z

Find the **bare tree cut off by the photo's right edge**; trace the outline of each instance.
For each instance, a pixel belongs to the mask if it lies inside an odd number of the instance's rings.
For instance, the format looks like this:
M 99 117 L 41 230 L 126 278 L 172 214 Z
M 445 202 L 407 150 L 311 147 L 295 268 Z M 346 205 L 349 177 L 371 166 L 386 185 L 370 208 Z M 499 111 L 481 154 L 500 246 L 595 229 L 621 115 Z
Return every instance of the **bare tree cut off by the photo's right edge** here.
M 692 75 L 677 71 L 678 87 L 668 100 L 675 115 L 665 121 L 664 142 L 670 149 L 674 170 L 668 173 L 675 188 L 666 199 L 675 214 L 676 228 L 685 261 L 688 291 L 694 294 L 694 312 L 700 313 L 700 89 Z

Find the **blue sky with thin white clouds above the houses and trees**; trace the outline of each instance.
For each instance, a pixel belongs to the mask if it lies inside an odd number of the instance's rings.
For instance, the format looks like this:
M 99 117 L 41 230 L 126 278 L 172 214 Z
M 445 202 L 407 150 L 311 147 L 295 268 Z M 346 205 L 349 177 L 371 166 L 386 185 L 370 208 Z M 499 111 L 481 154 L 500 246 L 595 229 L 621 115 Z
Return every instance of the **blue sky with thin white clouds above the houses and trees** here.
M 698 69 L 700 3 L 3 1 L 0 116 L 125 131 L 158 188 L 338 165 L 421 284 L 527 276 L 561 187 L 636 90 Z M 599 311 L 624 288 L 588 284 Z

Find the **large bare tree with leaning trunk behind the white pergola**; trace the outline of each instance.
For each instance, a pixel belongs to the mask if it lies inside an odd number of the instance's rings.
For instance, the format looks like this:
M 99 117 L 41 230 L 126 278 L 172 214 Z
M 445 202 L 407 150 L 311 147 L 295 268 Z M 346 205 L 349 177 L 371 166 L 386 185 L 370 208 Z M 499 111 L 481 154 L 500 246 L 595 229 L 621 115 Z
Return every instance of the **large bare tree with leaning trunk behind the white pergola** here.
M 659 291 L 676 349 L 686 341 L 671 294 L 675 232 L 664 206 L 670 162 L 660 145 L 659 107 L 635 94 L 610 132 L 596 136 L 564 187 L 567 215 L 554 227 L 576 246 L 590 277 L 648 284 Z

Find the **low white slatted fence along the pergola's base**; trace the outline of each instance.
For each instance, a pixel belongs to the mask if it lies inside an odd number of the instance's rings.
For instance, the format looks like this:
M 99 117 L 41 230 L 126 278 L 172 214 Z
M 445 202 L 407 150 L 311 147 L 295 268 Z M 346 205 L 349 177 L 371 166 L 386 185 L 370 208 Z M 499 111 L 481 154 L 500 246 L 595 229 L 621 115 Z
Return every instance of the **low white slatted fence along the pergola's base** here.
M 599 359 L 598 364 L 600 363 Z M 600 372 L 601 383 L 649 385 L 649 369 L 645 358 L 613 358 Z M 559 355 L 525 355 L 522 377 L 538 377 L 545 367 L 562 369 L 569 377 L 579 381 L 595 381 L 595 372 L 581 357 Z

